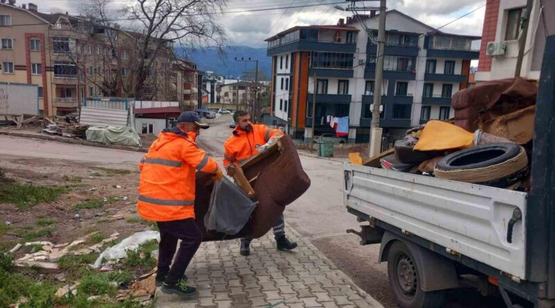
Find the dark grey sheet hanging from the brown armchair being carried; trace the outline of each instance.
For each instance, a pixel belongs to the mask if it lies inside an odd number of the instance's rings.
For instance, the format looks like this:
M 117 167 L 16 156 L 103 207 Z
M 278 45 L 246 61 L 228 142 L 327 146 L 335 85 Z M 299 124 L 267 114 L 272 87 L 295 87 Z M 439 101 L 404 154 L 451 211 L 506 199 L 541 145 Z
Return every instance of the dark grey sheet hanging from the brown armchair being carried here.
M 235 235 L 247 224 L 257 206 L 228 178 L 214 183 L 210 196 L 210 208 L 204 217 L 207 230 Z

